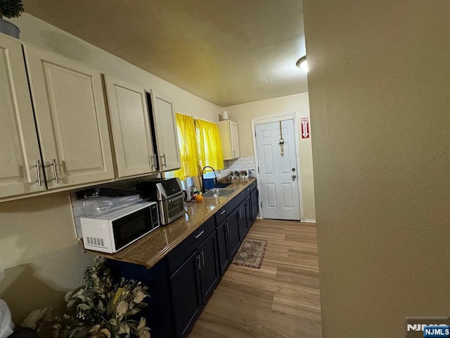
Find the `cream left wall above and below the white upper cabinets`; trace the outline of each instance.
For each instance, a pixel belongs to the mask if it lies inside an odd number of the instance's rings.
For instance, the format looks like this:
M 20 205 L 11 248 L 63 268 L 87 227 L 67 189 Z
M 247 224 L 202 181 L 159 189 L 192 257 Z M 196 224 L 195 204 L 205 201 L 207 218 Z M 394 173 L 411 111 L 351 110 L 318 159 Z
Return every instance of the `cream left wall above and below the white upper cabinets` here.
M 219 120 L 220 108 L 146 73 L 56 27 L 24 14 L 12 20 L 23 42 L 75 59 L 105 73 L 174 99 L 176 111 Z M 20 324 L 37 307 L 63 308 L 63 295 L 79 286 L 84 268 L 94 262 L 75 242 L 69 192 L 0 203 L 0 298 Z

